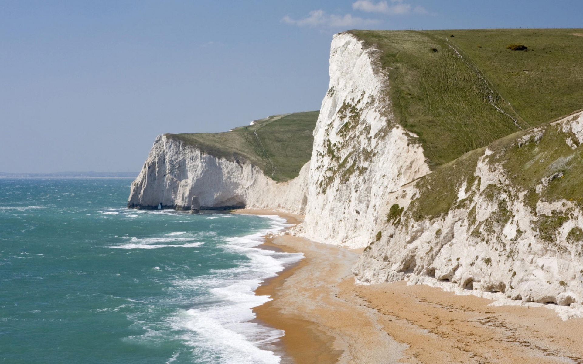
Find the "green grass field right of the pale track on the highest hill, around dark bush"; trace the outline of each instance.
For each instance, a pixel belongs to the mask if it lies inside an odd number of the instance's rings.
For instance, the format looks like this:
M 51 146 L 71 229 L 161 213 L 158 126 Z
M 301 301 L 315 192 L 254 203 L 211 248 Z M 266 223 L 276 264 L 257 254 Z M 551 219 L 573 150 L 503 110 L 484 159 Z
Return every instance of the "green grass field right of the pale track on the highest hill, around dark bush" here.
M 431 33 L 461 48 L 530 126 L 583 108 L 583 29 Z M 528 50 L 511 51 L 510 44 Z

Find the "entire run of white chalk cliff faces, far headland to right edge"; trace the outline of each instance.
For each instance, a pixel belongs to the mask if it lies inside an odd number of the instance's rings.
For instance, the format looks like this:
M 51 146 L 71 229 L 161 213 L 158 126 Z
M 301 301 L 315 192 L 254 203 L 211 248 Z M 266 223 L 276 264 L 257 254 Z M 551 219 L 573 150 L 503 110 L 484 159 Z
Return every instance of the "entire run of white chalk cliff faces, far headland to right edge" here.
M 128 207 L 302 213 L 297 234 L 366 247 L 354 267 L 363 284 L 408 278 L 499 292 L 517 302 L 580 305 L 583 210 L 569 200 L 529 199 L 532 191 L 515 185 L 501 162 L 504 149 L 470 152 L 477 161 L 468 175 L 455 179 L 454 205 L 438 216 L 419 215 L 423 181 L 433 174 L 416 136 L 394 118 L 391 84 L 378 56 L 352 34 L 334 36 L 311 160 L 297 178 L 274 182 L 250 162 L 159 136 L 132 185 Z M 512 145 L 535 145 L 543 137 L 563 138 L 577 151 L 583 113 L 525 132 Z M 541 179 L 537 196 L 561 176 Z M 557 216 L 562 218 L 555 226 Z

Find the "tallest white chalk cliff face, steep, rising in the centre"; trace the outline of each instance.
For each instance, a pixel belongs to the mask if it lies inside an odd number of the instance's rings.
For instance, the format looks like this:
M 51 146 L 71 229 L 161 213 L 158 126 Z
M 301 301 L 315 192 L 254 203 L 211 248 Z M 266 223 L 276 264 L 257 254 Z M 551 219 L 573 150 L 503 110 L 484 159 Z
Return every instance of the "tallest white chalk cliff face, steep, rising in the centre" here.
M 388 193 L 429 173 L 420 144 L 394 121 L 378 52 L 336 34 L 330 84 L 314 130 L 304 234 L 368 245 Z

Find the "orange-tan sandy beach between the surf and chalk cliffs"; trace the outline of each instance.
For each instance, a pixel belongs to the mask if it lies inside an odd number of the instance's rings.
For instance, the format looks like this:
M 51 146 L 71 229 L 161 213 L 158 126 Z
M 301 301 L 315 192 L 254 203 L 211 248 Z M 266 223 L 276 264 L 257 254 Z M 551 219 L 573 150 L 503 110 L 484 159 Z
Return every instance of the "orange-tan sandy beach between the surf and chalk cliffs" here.
M 350 268 L 360 250 L 293 235 L 269 238 L 265 248 L 272 247 L 305 255 L 257 289 L 273 300 L 255 308 L 258 320 L 285 330 L 283 345 L 297 364 L 583 363 L 583 319 L 488 306 L 493 301 L 406 281 L 355 285 Z

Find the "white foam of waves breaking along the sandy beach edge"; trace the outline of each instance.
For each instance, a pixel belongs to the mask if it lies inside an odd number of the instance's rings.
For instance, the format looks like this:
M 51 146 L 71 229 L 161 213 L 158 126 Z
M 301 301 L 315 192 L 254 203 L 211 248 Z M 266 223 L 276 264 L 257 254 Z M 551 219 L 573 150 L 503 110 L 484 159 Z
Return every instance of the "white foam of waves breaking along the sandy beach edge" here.
M 223 215 L 217 215 L 217 218 Z M 228 215 L 232 218 L 233 215 Z M 213 216 L 214 217 L 214 216 Z M 254 234 L 224 238 L 215 233 L 172 232 L 147 238 L 121 237 L 124 244 L 111 248 L 157 249 L 166 247 L 199 246 L 195 239 L 213 239 L 224 252 L 236 252 L 246 256 L 240 265 L 233 268 L 211 270 L 210 275 L 200 277 L 177 277 L 170 296 L 178 301 L 188 299 L 194 308 L 180 309 L 166 316 L 163 322 L 146 323 L 139 317 L 129 317 L 146 333 L 138 340 L 162 341 L 166 335 L 182 340 L 191 347 L 197 361 L 217 364 L 276 364 L 281 361 L 273 343 L 284 335 L 259 323 L 252 308 L 271 300 L 268 296 L 255 295 L 255 289 L 266 279 L 274 277 L 286 264 L 303 258 L 301 253 L 279 253 L 255 248 L 264 242 L 264 235 L 288 226 L 286 220 L 277 216 L 269 218 L 270 227 Z M 211 235 L 211 236 L 209 236 Z M 214 243 L 214 242 L 213 242 Z M 181 245 L 178 245 L 181 244 Z M 153 269 L 156 270 L 157 267 Z M 192 292 L 201 294 L 192 295 Z M 192 307 L 191 306 L 191 307 Z M 171 363 L 188 351 L 175 352 L 168 360 Z

